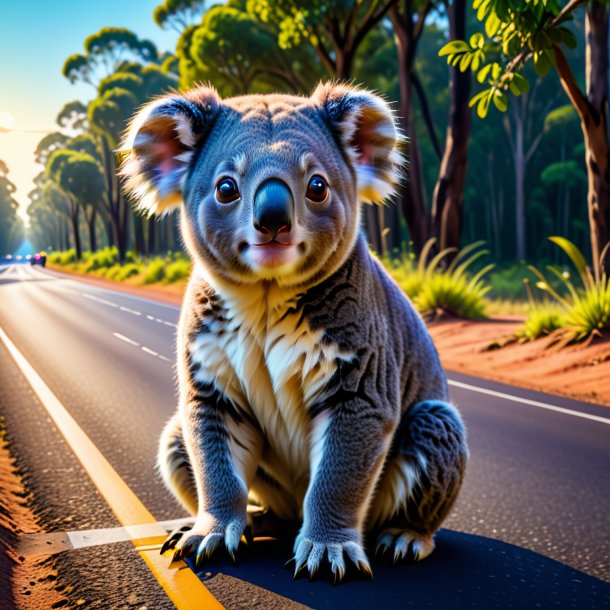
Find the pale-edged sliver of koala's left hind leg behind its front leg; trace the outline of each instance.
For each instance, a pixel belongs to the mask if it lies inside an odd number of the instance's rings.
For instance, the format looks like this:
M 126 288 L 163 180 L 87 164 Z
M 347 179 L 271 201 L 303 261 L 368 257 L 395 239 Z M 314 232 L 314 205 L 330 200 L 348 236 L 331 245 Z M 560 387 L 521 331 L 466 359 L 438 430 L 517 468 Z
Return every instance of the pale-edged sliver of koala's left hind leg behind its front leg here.
M 184 445 L 182 424 L 178 413 L 174 414 L 163 429 L 157 464 L 166 487 L 191 515 L 196 515 L 197 487 Z

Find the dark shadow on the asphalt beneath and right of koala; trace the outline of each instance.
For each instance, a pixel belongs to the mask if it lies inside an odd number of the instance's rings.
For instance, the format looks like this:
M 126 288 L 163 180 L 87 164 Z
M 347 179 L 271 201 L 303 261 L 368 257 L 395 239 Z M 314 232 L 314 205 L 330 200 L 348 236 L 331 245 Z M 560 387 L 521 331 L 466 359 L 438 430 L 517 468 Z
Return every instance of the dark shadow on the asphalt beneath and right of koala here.
M 373 563 L 372 582 L 293 581 L 292 569 L 283 567 L 290 546 L 272 540 L 242 545 L 237 566 L 217 560 L 198 575 L 205 581 L 226 574 L 312 608 L 610 608 L 610 583 L 543 555 L 451 530 L 436 540 L 436 551 L 422 563 Z

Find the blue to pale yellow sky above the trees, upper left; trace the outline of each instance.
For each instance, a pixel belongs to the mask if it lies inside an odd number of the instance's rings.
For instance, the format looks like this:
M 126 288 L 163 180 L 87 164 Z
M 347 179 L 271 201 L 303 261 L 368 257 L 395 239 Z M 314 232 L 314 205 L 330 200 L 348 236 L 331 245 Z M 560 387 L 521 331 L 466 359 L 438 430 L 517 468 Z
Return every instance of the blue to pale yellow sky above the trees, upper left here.
M 63 63 L 83 53 L 85 38 L 106 26 L 126 27 L 173 51 L 177 34 L 153 21 L 161 0 L 6 0 L 0 3 L 0 159 L 17 187 L 15 198 L 25 217 L 32 179 L 42 169 L 34 150 L 45 133 L 57 131 L 55 117 L 72 100 L 87 102 L 90 85 L 72 85 Z

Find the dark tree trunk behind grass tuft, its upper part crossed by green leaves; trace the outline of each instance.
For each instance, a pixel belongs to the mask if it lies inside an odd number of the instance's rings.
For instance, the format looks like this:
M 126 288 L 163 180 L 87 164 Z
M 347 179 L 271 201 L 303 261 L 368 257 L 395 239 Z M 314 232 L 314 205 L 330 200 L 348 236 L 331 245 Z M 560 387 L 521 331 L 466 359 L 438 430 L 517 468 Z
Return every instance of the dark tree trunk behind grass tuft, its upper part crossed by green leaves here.
M 466 0 L 449 5 L 451 40 L 466 38 Z M 470 136 L 470 70 L 451 68 L 451 108 L 445 152 L 432 195 L 432 223 L 438 247 L 459 248 L 464 207 L 464 181 Z

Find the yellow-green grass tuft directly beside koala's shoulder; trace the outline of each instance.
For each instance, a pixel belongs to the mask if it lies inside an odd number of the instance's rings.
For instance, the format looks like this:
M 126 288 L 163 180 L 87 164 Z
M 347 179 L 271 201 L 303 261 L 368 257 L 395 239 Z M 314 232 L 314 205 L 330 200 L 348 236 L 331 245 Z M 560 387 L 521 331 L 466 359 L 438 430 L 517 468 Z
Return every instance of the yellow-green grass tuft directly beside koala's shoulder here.
M 429 240 L 420 259 L 404 255 L 382 262 L 399 286 L 413 299 L 417 309 L 427 317 L 452 315 L 466 319 L 485 317 L 485 295 L 489 285 L 483 280 L 493 265 L 487 265 L 470 275 L 469 269 L 487 250 L 475 242 L 458 252 L 445 268 L 442 264 L 454 251 L 450 248 L 429 258 L 434 240 Z M 429 260 L 428 260 L 429 259 Z

